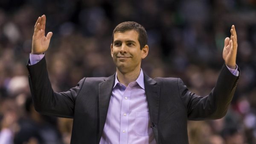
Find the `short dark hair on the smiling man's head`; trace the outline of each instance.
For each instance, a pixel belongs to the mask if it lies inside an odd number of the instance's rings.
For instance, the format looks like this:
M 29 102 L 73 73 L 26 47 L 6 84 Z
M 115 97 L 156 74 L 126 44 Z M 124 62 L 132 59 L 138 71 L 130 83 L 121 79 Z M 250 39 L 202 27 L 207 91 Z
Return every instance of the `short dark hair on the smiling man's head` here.
M 147 32 L 143 26 L 134 21 L 126 21 L 117 25 L 116 28 L 113 30 L 112 43 L 114 42 L 114 34 L 116 32 L 126 32 L 129 30 L 135 30 L 139 34 L 138 40 L 140 43 L 140 49 L 142 49 L 148 43 Z

